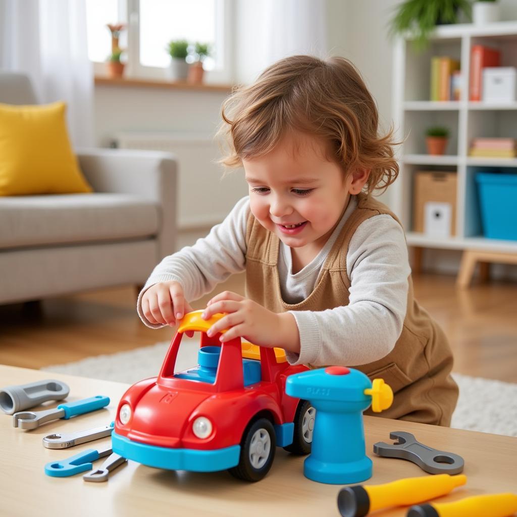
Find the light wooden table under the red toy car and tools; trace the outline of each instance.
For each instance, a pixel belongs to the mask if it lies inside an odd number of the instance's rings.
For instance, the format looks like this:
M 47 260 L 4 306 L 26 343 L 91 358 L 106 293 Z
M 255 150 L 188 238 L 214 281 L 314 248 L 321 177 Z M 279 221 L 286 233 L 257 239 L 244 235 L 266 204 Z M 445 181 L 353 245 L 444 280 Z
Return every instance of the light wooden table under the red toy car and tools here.
M 107 409 L 67 421 L 55 420 L 32 431 L 13 428 L 12 417 L 0 413 L 0 515 L 339 515 L 336 500 L 340 486 L 306 479 L 303 476 L 303 458 L 291 456 L 281 448 L 277 449 L 269 474 L 258 483 L 239 481 L 226 471 L 175 472 L 132 461 L 115 470 L 108 482 L 104 483 L 85 482 L 82 475 L 69 478 L 46 476 L 43 473 L 45 463 L 68 458 L 84 449 L 98 448 L 108 444 L 109 438 L 70 449 L 54 450 L 43 447 L 43 436 L 108 424 L 115 418 L 117 402 L 127 386 L 0 365 L 0 386 L 25 384 L 44 378 L 65 381 L 70 386 L 69 401 L 102 394 L 111 398 L 111 404 Z M 371 452 L 375 442 L 389 442 L 390 431 L 408 431 L 425 445 L 455 452 L 465 459 L 467 484 L 455 489 L 442 501 L 515 491 L 517 438 L 379 417 L 366 417 L 364 421 L 367 453 L 373 459 L 374 474 L 368 481 L 370 484 L 427 475 L 413 463 L 377 458 Z M 346 442 L 345 432 L 343 442 Z M 94 466 L 99 466 L 102 461 L 97 460 Z M 375 513 L 379 517 L 405 514 L 403 508 Z

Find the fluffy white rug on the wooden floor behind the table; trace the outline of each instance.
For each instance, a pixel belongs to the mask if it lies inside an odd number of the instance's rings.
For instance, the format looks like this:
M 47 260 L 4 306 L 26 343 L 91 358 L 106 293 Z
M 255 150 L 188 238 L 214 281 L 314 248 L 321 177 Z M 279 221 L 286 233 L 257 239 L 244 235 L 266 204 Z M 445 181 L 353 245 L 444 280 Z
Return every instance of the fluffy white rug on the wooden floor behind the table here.
M 187 339 L 187 338 L 184 338 Z M 192 338 L 179 349 L 177 370 L 197 364 L 199 341 Z M 158 374 L 169 342 L 137 348 L 129 352 L 88 357 L 68 364 L 56 364 L 45 371 L 133 384 Z M 451 427 L 485 433 L 517 436 L 517 384 L 469 377 L 454 373 L 460 386 L 460 399 Z

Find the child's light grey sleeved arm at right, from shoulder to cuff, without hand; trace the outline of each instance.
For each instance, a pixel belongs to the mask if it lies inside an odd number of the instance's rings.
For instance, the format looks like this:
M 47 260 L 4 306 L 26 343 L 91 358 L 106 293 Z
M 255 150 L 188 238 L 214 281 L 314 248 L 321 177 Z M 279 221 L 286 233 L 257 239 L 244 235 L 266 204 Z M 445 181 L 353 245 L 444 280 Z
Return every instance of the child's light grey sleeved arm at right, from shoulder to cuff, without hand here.
M 389 215 L 364 221 L 346 257 L 348 305 L 326 311 L 290 311 L 300 336 L 295 364 L 354 366 L 391 352 L 402 332 L 410 273 L 404 232 Z

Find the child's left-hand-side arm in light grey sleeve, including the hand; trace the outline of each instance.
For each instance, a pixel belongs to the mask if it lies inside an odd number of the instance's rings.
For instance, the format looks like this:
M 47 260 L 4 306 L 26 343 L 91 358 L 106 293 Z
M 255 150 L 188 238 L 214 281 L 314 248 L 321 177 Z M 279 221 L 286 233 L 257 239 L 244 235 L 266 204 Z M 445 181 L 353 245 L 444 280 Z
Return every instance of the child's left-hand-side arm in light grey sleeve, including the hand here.
M 166 256 L 155 267 L 137 302 L 138 313 L 148 327 L 176 323 L 174 296 L 182 313 L 179 317 L 183 317 L 183 309 L 190 309 L 186 300 L 200 298 L 232 273 L 244 270 L 249 212 L 246 196 L 205 238 Z

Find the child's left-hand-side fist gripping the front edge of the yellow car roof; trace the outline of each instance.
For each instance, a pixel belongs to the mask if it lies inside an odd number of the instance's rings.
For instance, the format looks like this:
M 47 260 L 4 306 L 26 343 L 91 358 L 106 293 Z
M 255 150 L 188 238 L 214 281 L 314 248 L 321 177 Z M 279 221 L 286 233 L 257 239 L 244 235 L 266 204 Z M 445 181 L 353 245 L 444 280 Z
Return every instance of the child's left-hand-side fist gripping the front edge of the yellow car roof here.
M 142 296 L 142 312 L 151 324 L 176 325 L 192 307 L 185 300 L 183 287 L 179 282 L 158 282 Z

